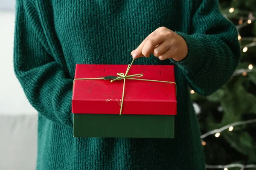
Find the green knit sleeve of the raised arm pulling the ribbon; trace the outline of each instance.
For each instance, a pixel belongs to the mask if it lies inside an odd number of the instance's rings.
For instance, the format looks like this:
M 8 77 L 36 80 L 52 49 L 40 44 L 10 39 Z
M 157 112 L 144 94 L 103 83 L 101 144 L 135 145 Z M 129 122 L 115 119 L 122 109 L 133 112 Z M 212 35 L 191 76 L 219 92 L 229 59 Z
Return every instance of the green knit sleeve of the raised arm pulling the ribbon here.
M 195 92 L 207 96 L 232 77 L 241 51 L 236 27 L 221 14 L 218 0 L 193 2 L 191 34 L 176 32 L 186 41 L 188 55 L 171 62 L 183 70 Z

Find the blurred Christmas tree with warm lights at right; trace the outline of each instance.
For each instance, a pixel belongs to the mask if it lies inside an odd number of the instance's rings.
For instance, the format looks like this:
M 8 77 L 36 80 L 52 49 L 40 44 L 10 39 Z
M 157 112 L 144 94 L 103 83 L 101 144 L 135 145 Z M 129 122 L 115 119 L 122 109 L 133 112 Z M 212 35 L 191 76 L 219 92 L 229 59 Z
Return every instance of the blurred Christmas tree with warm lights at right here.
M 219 3 L 239 31 L 242 57 L 230 81 L 214 94 L 203 97 L 191 89 L 207 169 L 256 170 L 256 0 Z

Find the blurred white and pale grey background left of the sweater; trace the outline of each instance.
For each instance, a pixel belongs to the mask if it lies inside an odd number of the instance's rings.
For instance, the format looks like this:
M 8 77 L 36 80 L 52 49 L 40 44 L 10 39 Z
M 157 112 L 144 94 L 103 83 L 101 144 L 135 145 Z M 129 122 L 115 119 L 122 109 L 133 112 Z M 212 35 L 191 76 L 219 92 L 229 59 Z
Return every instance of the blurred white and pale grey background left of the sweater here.
M 0 0 L 0 170 L 35 170 L 37 112 L 13 71 L 15 0 Z

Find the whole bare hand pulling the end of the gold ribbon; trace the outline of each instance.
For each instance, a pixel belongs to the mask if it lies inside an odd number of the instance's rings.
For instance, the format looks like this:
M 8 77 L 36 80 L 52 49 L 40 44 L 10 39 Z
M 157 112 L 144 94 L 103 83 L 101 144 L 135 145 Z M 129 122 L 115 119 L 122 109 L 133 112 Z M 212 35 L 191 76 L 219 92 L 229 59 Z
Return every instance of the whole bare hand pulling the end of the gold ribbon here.
M 174 31 L 159 27 L 141 42 L 139 47 L 131 52 L 132 57 L 149 57 L 153 53 L 160 60 L 173 58 L 176 61 L 184 59 L 188 54 L 186 41 Z

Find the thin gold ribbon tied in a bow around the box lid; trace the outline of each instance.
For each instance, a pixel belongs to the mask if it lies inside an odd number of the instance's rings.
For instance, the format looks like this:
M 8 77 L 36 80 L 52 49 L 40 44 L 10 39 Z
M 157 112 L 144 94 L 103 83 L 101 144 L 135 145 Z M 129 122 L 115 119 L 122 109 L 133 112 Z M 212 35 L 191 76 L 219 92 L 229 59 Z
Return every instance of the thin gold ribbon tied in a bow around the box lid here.
M 141 81 L 148 81 L 148 82 L 166 82 L 166 83 L 173 83 L 175 84 L 175 95 L 177 95 L 177 85 L 175 82 L 167 82 L 167 81 L 160 81 L 160 80 L 150 80 L 150 79 L 137 79 L 136 77 L 143 77 L 143 74 L 132 74 L 132 75 L 127 75 L 132 63 L 134 62 L 134 59 L 132 60 L 131 64 L 128 65 L 128 68 L 125 72 L 125 74 L 123 73 L 117 73 L 117 75 L 119 77 L 117 77 L 116 79 L 112 79 L 110 82 L 116 81 L 116 80 L 121 80 L 124 79 L 124 83 L 123 83 L 123 90 L 122 90 L 122 100 L 121 100 L 121 107 L 120 107 L 120 115 L 122 114 L 122 105 L 123 105 L 123 100 L 124 100 L 124 96 L 125 96 L 125 79 L 134 79 L 134 80 L 141 80 Z M 75 84 L 75 80 L 93 80 L 93 79 L 104 79 L 104 78 L 81 78 L 81 79 L 74 79 L 73 80 L 73 88 L 74 88 L 74 84 Z

